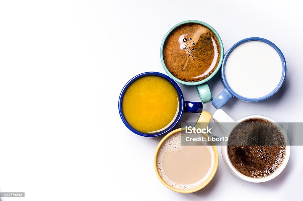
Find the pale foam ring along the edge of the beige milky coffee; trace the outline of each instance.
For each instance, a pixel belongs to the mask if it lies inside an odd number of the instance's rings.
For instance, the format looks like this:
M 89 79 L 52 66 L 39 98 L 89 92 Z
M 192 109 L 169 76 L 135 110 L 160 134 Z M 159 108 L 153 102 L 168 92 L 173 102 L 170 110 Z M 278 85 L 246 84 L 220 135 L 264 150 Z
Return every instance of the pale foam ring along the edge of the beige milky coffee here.
M 200 134 L 194 134 L 194 135 L 200 135 Z M 175 189 L 181 189 L 181 190 L 193 189 L 193 188 L 201 185 L 201 183 L 203 183 L 205 181 L 205 179 L 208 178 L 208 176 L 211 173 L 211 170 L 214 168 L 214 161 L 215 161 L 214 150 L 211 147 L 211 145 L 207 145 L 207 143 L 209 143 L 209 142 L 203 142 L 204 145 L 200 145 L 200 146 L 206 146 L 211 155 L 211 166 L 210 166 L 210 169 L 208 170 L 208 172 L 206 173 L 206 175 L 202 179 L 200 179 L 198 182 L 195 182 L 193 184 L 178 184 L 176 182 L 173 182 L 170 178 L 168 178 L 165 175 L 164 169 L 162 167 L 162 159 L 163 159 L 163 156 L 165 155 L 165 152 L 181 151 L 185 147 L 185 145 L 181 145 L 181 132 L 175 133 L 174 135 L 171 135 L 169 138 L 167 138 L 161 145 L 161 147 L 158 151 L 158 156 L 157 156 L 158 172 L 159 172 L 161 178 L 165 181 L 165 183 L 167 183 L 169 186 L 171 186 Z

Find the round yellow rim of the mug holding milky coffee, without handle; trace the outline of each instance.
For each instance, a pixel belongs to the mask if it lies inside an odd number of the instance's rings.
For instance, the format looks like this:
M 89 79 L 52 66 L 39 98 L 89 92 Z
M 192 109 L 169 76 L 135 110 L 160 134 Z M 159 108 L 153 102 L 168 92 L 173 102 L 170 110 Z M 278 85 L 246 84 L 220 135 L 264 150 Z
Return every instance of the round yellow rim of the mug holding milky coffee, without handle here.
M 209 182 L 211 182 L 211 180 L 214 178 L 216 172 L 217 172 L 217 169 L 218 169 L 218 163 L 219 163 L 219 157 L 218 157 L 218 150 L 217 150 L 217 147 L 216 145 L 212 145 L 212 150 L 214 151 L 214 167 L 213 169 L 211 170 L 211 173 L 210 175 L 207 177 L 207 179 L 205 179 L 205 181 L 200 184 L 199 186 L 195 187 L 195 188 L 192 188 L 192 189 L 176 189 L 176 188 L 173 188 L 171 186 L 169 186 L 160 176 L 159 174 L 159 171 L 158 171 L 158 165 L 157 165 L 157 159 L 158 159 L 158 152 L 159 152 L 159 149 L 161 148 L 163 142 L 169 138 L 171 135 L 174 135 L 175 133 L 177 132 L 181 132 L 182 129 L 185 129 L 185 128 L 178 128 L 178 129 L 175 129 L 173 131 L 171 131 L 170 133 L 168 133 L 167 135 L 164 136 L 164 138 L 161 139 L 161 141 L 159 142 L 157 148 L 156 148 L 156 152 L 155 152 L 155 156 L 154 156 L 154 168 L 155 168 L 155 172 L 156 172 L 156 175 L 158 177 L 158 179 L 161 181 L 161 183 L 166 186 L 168 189 L 171 189 L 175 192 L 180 192 L 180 193 L 192 193 L 192 192 L 196 192 L 198 190 L 201 190 L 203 189 L 205 186 L 208 185 Z M 205 136 L 209 136 L 207 134 L 203 134 Z

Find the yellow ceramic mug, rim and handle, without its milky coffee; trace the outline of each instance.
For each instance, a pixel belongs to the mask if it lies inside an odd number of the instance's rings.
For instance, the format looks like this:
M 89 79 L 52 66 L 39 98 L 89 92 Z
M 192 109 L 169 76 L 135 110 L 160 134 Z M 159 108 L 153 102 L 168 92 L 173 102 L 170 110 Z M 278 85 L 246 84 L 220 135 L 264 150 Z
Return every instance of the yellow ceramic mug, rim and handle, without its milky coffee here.
M 197 123 L 195 124 L 195 128 L 201 128 L 200 125 L 203 125 L 203 127 L 207 127 L 208 126 L 208 123 L 210 122 L 211 120 L 211 114 L 207 111 L 203 111 L 197 121 Z M 199 123 L 202 123 L 202 124 L 199 124 Z M 162 182 L 162 184 L 164 184 L 164 186 L 166 186 L 167 188 L 175 191 L 175 192 L 180 192 L 180 193 L 191 193 L 191 192 L 196 192 L 198 190 L 201 190 L 202 188 L 204 188 L 210 181 L 211 179 L 215 176 L 216 172 L 217 172 L 217 169 L 218 169 L 218 161 L 219 161 L 219 157 L 218 157 L 218 151 L 217 151 L 217 147 L 215 144 L 213 144 L 212 142 L 211 143 L 211 147 L 214 151 L 214 166 L 213 166 L 213 169 L 211 170 L 211 173 L 210 175 L 204 180 L 204 182 L 202 182 L 199 186 L 196 186 L 192 189 L 176 189 L 174 187 L 171 187 L 170 185 L 168 185 L 160 176 L 159 172 L 158 172 L 158 166 L 157 166 L 157 158 L 158 158 L 158 152 L 159 152 L 159 149 L 161 148 L 161 145 L 163 144 L 163 142 L 169 138 L 171 135 L 174 135 L 175 133 L 178 133 L 178 132 L 181 132 L 181 129 L 185 129 L 185 128 L 178 128 L 174 131 L 171 131 L 170 133 L 168 133 L 158 144 L 157 146 L 157 149 L 156 149 L 156 152 L 155 152 L 155 157 L 154 157 L 154 166 L 155 166 L 155 171 L 156 171 L 156 174 L 158 176 L 158 179 Z M 202 129 L 202 128 L 201 128 Z M 208 134 L 202 134 L 204 137 L 208 138 L 209 135 Z

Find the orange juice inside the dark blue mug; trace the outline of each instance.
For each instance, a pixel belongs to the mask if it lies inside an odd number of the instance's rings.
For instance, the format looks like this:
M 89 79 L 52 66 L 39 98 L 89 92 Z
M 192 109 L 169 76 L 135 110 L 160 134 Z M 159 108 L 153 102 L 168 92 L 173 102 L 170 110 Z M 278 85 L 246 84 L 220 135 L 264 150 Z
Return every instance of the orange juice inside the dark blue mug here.
M 122 99 L 123 115 L 132 128 L 157 133 L 177 118 L 180 107 L 175 86 L 163 77 L 147 75 L 131 83 Z

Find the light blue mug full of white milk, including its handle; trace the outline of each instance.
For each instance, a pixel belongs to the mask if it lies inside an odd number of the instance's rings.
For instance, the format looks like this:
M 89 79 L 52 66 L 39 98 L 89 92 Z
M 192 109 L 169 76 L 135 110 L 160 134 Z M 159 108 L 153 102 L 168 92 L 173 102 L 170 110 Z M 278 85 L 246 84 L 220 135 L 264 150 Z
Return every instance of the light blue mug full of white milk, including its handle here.
M 240 40 L 225 53 L 221 68 L 225 89 L 212 104 L 220 109 L 232 97 L 265 100 L 281 88 L 285 76 L 286 61 L 274 43 L 257 37 Z

